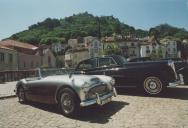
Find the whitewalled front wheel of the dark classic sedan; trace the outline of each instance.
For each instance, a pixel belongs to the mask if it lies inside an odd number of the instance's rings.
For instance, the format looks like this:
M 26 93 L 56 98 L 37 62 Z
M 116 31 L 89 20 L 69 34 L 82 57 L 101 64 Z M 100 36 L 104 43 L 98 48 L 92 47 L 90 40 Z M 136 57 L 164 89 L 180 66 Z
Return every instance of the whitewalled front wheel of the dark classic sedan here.
M 145 78 L 143 89 L 148 95 L 159 95 L 163 91 L 163 84 L 159 77 L 150 76 Z

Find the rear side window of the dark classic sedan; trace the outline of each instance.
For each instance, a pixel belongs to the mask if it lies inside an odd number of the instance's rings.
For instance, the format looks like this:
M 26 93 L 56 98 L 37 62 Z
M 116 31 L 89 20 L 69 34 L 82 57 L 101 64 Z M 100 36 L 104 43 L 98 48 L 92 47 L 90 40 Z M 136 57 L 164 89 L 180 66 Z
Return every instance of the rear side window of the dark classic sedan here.
M 88 69 L 96 68 L 96 66 L 97 66 L 96 59 L 90 59 L 90 60 L 86 60 L 86 61 L 83 61 L 80 64 L 78 64 L 77 69 L 88 70 Z

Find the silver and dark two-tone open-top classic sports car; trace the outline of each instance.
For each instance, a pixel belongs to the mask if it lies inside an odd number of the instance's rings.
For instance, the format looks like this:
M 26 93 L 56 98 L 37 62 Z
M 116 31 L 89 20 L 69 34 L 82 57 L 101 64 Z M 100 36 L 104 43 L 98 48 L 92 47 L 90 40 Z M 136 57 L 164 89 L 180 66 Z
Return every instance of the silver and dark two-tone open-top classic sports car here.
M 39 77 L 20 80 L 15 92 L 21 103 L 58 104 L 63 115 L 75 116 L 80 107 L 110 102 L 117 95 L 114 84 L 114 79 L 105 75 L 68 75 L 63 69 L 39 69 Z

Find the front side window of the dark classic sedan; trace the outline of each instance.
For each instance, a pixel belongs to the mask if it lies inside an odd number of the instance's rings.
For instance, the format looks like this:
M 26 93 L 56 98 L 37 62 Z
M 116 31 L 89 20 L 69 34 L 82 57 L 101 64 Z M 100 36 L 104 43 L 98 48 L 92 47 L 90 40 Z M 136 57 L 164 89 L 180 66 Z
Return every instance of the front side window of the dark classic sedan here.
M 110 65 L 115 65 L 116 63 L 112 58 L 100 58 L 99 59 L 99 67 L 107 67 Z

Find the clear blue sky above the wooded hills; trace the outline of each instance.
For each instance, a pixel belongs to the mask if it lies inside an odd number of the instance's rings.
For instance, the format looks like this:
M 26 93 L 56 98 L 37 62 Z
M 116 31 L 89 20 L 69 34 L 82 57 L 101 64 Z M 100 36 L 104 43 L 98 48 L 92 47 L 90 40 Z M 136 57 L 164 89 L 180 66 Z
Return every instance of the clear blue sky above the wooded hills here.
M 46 18 L 88 12 L 149 30 L 159 24 L 188 30 L 188 0 L 0 0 L 0 40 Z

